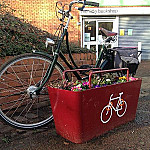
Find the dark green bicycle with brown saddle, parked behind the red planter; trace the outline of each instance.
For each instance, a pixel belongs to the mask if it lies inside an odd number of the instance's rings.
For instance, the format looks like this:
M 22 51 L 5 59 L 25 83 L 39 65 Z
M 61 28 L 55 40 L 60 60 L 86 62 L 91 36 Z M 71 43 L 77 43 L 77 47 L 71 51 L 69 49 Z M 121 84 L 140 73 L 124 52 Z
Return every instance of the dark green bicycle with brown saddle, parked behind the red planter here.
M 0 69 L 0 116 L 15 127 L 29 129 L 43 126 L 53 120 L 47 85 L 58 86 L 62 81 L 65 68 L 58 62 L 60 57 L 69 69 L 89 68 L 77 66 L 71 55 L 68 42 L 69 22 L 73 19 L 72 6 L 80 4 L 78 10 L 82 11 L 86 5 L 99 6 L 98 3 L 89 1 L 72 1 L 68 10 L 61 2 L 56 3 L 57 13 L 61 14 L 61 24 L 58 28 L 56 44 L 47 39 L 46 45 L 54 47 L 53 55 L 33 51 L 10 59 Z M 61 6 L 61 8 L 59 7 Z M 65 19 L 67 18 L 67 21 Z M 94 68 L 114 68 L 114 51 L 107 49 L 107 45 L 116 40 L 117 33 L 100 29 L 105 42 L 99 53 Z M 61 51 L 61 45 L 66 37 L 67 52 L 72 65 Z M 55 48 L 56 47 L 56 48 Z M 82 72 L 81 72 L 82 74 Z M 78 80 L 82 77 L 74 72 Z

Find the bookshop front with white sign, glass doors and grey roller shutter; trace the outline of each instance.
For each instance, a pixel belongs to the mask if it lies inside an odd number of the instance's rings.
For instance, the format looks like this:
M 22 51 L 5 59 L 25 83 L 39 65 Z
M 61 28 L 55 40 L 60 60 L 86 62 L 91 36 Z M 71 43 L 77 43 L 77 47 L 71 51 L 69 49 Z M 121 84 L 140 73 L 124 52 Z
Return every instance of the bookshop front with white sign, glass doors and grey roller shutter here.
M 138 47 L 142 59 L 150 59 L 149 6 L 85 8 L 80 13 L 81 46 L 96 49 L 98 55 L 102 45 L 99 29 L 103 27 L 118 33 L 117 41 L 110 47 Z

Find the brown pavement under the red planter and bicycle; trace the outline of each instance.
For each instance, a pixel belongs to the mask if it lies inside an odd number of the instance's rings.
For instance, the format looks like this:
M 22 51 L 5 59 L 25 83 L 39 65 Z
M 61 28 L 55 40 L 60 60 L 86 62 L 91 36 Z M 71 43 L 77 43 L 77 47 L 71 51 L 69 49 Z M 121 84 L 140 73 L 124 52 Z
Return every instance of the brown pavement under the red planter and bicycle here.
M 54 123 L 36 130 L 20 130 L 0 122 L 1 150 L 149 150 L 150 149 L 150 61 L 143 61 L 137 77 L 142 87 L 134 121 L 83 144 L 57 135 Z M 133 89 L 134 90 L 134 89 Z

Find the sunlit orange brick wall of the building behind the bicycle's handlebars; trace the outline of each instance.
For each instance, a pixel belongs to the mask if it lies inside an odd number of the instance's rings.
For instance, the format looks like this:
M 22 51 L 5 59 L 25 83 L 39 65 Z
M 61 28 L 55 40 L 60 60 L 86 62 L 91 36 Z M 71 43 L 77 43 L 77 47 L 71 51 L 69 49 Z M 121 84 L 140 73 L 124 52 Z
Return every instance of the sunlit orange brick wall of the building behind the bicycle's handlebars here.
M 61 0 L 62 3 L 69 3 L 71 0 Z M 14 15 L 23 17 L 32 25 L 54 34 L 59 20 L 55 14 L 55 3 L 57 0 L 7 0 L 7 3 L 16 10 Z M 67 6 L 66 6 L 67 8 Z M 79 11 L 73 9 L 74 19 L 69 26 L 70 41 L 80 41 Z

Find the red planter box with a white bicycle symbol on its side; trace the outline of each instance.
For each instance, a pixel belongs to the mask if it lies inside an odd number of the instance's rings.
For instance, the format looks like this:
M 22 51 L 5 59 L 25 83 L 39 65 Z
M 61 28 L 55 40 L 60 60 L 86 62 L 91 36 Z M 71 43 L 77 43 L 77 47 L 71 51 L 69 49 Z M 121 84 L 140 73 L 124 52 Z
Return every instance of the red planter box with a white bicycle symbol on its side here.
M 49 89 L 56 131 L 83 143 L 135 119 L 141 79 L 86 91 Z

